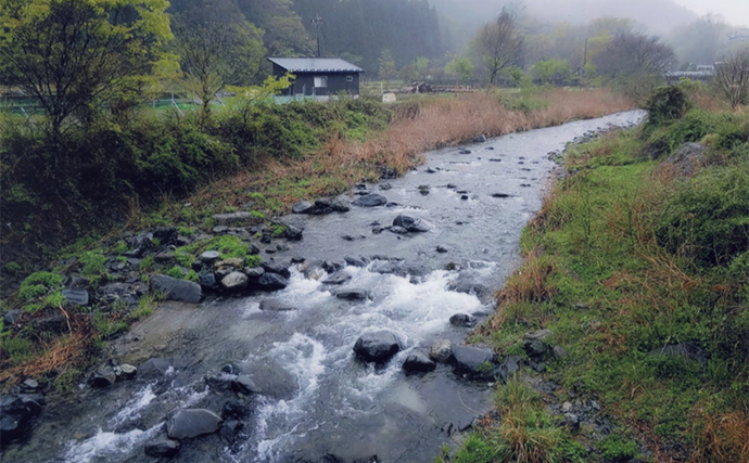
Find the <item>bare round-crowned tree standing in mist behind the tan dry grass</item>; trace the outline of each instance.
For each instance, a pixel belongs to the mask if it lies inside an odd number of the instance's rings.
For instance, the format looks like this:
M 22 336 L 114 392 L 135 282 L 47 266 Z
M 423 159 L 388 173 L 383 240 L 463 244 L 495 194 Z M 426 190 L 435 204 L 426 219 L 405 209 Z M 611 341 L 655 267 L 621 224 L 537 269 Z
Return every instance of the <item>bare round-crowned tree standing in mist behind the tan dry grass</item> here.
M 515 14 L 503 8 L 499 17 L 482 27 L 477 39 L 488 72 L 488 81 L 494 83 L 499 72 L 515 62 L 523 43 L 516 27 Z

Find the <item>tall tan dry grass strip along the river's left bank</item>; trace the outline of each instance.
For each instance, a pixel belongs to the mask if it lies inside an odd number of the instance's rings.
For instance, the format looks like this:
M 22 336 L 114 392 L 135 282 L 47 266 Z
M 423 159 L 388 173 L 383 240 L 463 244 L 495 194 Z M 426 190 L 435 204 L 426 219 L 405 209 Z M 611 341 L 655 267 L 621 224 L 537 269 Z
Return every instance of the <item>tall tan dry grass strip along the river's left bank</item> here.
M 261 159 L 253 170 L 219 181 L 195 195 L 192 203 L 240 204 L 241 198 L 232 197 L 237 191 L 264 192 L 284 180 L 323 176 L 338 181 L 314 184 L 308 194 L 335 194 L 341 185 L 379 178 L 384 167 L 404 173 L 423 160 L 423 153 L 458 145 L 481 134 L 496 137 L 634 107 L 627 99 L 608 89 L 553 89 L 534 97 L 545 104 L 529 112 L 508 110 L 493 91 L 404 103 L 396 106 L 393 121 L 385 130 L 364 142 L 333 138 L 323 149 L 300 160 Z M 278 194 L 276 200 L 285 206 L 301 200 L 292 191 Z

